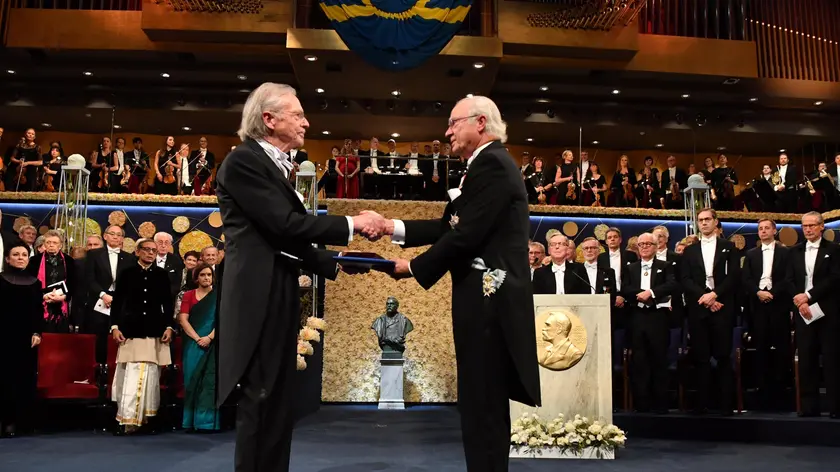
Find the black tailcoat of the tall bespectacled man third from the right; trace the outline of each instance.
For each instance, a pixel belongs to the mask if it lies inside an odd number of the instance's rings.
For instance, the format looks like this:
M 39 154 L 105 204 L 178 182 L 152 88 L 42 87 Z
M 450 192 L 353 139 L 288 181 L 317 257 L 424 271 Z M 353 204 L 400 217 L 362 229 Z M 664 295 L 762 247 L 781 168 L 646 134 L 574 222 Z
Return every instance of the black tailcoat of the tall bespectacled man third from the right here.
M 698 242 L 685 248 L 682 260 L 677 265 L 689 313 L 695 313 L 699 308 L 710 313 L 709 310 L 697 305 L 697 300 L 706 293 L 706 269 L 701 246 L 702 242 Z M 740 260 L 735 244 L 718 238 L 713 264 L 712 277 L 715 282 L 714 292 L 717 294 L 717 301 L 723 304 L 723 312 L 735 313 L 735 292 L 741 287 Z

